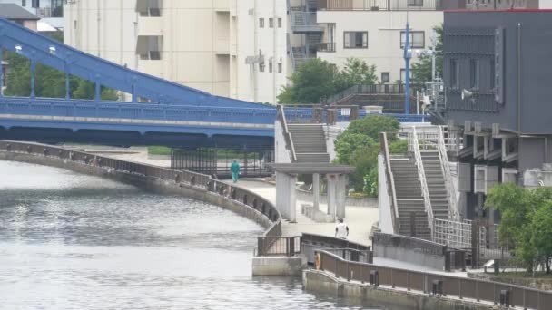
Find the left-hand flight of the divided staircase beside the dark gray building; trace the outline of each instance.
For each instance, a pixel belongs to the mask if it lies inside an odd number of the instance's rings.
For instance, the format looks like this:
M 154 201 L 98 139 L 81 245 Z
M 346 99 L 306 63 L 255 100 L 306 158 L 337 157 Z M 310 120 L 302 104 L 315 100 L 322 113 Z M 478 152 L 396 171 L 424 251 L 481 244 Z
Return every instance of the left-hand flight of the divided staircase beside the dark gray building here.
M 395 179 L 400 235 L 411 236 L 410 218 L 411 213 L 415 212 L 415 237 L 429 240 L 431 231 L 428 225 L 428 215 L 418 179 L 418 168 L 413 156 L 408 154 L 391 155 L 390 165 L 393 179 Z

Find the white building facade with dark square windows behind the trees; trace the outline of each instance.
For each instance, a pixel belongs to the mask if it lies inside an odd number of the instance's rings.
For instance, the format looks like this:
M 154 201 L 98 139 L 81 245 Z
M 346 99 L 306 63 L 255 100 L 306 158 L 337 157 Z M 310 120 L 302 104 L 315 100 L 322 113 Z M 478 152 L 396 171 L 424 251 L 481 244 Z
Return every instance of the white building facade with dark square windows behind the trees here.
M 317 21 L 324 26 L 317 57 L 343 67 L 354 57 L 376 65 L 382 83 L 405 79 L 404 44 L 407 16 L 412 50 L 432 47 L 433 28 L 443 23 L 438 0 L 326 0 Z M 389 7 L 390 5 L 390 7 Z M 389 7 L 389 9 L 388 9 Z M 417 61 L 413 53 L 411 63 Z

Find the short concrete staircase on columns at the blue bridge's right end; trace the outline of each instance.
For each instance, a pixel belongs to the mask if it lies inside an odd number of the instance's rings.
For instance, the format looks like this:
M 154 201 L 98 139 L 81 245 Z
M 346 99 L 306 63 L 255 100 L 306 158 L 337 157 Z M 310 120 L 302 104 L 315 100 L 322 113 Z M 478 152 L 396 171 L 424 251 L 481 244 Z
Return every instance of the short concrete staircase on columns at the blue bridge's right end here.
M 288 124 L 298 162 L 330 162 L 321 124 Z

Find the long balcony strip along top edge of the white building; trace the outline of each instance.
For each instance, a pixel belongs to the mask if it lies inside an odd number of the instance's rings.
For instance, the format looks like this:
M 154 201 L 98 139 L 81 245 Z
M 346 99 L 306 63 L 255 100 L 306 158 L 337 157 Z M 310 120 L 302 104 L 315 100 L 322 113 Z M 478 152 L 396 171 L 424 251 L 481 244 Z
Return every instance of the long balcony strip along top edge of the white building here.
M 440 11 L 441 0 L 319 0 L 326 11 Z

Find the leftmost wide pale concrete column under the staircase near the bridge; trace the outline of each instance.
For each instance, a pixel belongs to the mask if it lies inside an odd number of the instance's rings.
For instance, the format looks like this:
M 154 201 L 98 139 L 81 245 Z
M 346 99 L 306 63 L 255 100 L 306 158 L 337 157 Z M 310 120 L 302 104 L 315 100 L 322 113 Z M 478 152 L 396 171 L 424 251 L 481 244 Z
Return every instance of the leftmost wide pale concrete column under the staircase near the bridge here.
M 297 221 L 297 201 L 295 199 L 296 175 L 276 172 L 276 208 L 290 222 Z

